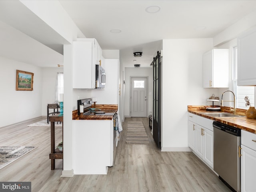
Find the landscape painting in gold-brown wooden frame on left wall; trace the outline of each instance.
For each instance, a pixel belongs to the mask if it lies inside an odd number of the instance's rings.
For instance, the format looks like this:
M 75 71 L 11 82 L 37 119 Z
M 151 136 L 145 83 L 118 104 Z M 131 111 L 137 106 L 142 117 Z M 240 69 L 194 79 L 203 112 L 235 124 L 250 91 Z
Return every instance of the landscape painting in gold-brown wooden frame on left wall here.
M 33 90 L 34 73 L 16 70 L 16 91 Z

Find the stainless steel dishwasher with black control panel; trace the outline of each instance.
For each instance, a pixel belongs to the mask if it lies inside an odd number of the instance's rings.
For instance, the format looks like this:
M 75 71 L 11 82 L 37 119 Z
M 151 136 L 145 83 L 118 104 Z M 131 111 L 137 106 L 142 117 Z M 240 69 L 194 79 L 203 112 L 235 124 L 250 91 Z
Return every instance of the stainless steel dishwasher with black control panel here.
M 213 135 L 213 169 L 228 188 L 240 192 L 241 130 L 214 121 Z

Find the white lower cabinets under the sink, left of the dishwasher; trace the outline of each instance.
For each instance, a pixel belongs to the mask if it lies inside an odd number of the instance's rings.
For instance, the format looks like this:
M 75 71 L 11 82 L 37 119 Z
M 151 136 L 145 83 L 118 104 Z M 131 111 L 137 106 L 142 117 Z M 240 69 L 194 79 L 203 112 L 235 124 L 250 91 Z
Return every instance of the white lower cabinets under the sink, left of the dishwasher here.
M 202 161 L 213 168 L 213 120 L 188 113 L 188 146 Z M 195 119 L 194 118 L 194 119 Z

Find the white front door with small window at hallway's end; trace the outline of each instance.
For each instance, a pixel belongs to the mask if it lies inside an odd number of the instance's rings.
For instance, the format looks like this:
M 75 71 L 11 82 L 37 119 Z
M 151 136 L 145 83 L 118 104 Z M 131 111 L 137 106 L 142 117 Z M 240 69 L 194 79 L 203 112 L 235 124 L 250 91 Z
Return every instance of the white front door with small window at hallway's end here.
M 147 78 L 131 79 L 131 116 L 147 116 Z

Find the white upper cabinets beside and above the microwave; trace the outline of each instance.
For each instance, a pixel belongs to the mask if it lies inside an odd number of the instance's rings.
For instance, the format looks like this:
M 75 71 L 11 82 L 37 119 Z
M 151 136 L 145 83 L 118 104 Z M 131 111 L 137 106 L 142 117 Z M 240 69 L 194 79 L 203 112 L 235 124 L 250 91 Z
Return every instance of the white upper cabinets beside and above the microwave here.
M 73 42 L 73 88 L 95 88 L 95 65 L 101 62 L 102 50 L 94 38 Z

